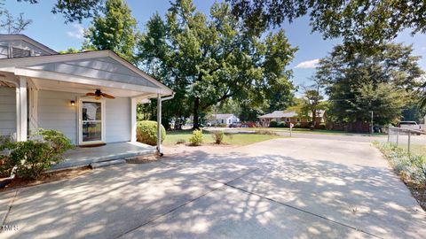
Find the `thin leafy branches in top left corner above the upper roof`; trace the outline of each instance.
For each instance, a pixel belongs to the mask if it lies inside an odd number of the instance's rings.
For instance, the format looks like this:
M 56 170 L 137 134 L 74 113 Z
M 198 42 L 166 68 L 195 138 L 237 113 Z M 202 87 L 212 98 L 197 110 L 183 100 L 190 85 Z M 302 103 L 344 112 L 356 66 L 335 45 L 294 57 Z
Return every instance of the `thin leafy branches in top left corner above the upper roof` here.
M 0 32 L 19 34 L 32 22 L 31 19 L 24 19 L 24 13 L 20 13 L 18 17 L 13 17 L 12 13 L 4 7 L 4 0 L 0 0 Z

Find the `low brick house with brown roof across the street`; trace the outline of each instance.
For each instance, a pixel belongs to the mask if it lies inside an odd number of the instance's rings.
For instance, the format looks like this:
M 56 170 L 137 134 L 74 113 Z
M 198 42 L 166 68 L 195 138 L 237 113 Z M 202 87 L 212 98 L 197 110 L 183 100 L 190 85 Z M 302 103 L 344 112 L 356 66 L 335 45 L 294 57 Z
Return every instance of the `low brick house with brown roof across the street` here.
M 284 122 L 287 127 L 289 127 L 290 123 L 300 124 L 301 127 L 307 127 L 309 122 L 311 121 L 312 114 L 310 117 L 298 116 L 295 111 L 275 111 L 272 113 L 268 113 L 262 116 L 259 116 L 260 125 L 262 127 L 269 127 L 271 121 L 276 122 Z M 316 124 L 325 122 L 325 111 L 319 110 L 317 114 Z

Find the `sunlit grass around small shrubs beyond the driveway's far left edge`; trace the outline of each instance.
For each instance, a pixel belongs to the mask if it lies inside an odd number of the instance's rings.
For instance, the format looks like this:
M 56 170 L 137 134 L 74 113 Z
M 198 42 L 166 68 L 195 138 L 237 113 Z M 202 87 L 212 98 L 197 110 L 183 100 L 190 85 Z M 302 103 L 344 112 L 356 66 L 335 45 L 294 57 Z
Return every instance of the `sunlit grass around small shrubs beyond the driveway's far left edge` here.
M 165 144 L 176 144 L 179 140 L 185 140 L 189 143 L 192 130 L 180 130 L 167 132 Z M 214 143 L 213 137 L 207 131 L 203 131 L 204 143 Z M 232 134 L 225 135 L 224 143 L 231 145 L 247 145 L 250 143 L 262 142 L 265 140 L 280 138 L 277 135 L 255 135 L 255 134 Z

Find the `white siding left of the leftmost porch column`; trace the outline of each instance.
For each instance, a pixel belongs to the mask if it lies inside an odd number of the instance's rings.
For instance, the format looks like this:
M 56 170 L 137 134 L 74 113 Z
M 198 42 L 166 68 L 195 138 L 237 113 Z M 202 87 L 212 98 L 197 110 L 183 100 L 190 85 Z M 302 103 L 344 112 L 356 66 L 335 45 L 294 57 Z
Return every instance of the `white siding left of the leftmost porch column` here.
M 16 89 L 0 87 L 0 135 L 16 133 Z

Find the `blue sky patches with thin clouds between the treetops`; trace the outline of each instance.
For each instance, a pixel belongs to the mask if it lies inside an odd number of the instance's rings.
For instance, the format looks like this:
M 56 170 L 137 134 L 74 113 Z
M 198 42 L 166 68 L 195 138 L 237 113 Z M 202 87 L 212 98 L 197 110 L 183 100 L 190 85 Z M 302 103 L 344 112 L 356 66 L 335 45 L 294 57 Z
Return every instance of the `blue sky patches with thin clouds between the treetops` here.
M 36 39 L 54 50 L 66 50 L 68 47 L 80 48 L 83 42 L 83 27 L 88 27 L 89 20 L 82 24 L 64 24 L 61 15 L 51 13 L 54 0 L 43 0 L 40 4 L 18 3 L 16 0 L 7 0 L 6 7 L 14 14 L 24 12 L 28 19 L 33 19 L 33 24 L 23 34 Z M 155 13 L 161 15 L 170 7 L 169 0 L 128 0 L 133 16 L 138 19 L 141 29 L 145 29 L 146 21 Z M 215 1 L 194 0 L 194 4 L 201 12 L 209 13 L 209 6 Z M 291 25 L 282 26 L 286 30 L 289 42 L 297 46 L 295 59 L 290 64 L 294 71 L 295 85 L 310 84 L 309 77 L 315 72 L 315 62 L 327 56 L 333 46 L 340 42 L 339 39 L 323 40 L 319 33 L 311 33 L 309 19 L 296 19 Z M 426 35 L 412 37 L 408 31 L 398 36 L 395 42 L 405 42 L 414 45 L 414 54 L 426 54 Z M 420 60 L 420 66 L 426 70 L 426 58 Z

